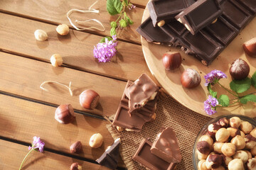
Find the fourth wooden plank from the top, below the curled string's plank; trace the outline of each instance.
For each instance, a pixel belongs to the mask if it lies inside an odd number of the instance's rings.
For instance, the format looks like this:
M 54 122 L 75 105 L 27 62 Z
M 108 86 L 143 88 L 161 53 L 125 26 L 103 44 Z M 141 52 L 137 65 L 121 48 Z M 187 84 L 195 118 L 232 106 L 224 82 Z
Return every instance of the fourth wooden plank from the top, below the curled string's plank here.
M 31 143 L 33 136 L 39 136 L 46 147 L 70 153 L 70 145 L 81 141 L 83 153 L 80 157 L 96 160 L 107 146 L 114 142 L 107 131 L 105 120 L 75 113 L 73 123 L 61 124 L 55 120 L 55 108 L 0 94 L 0 134 L 14 140 Z M 104 137 L 102 147 L 89 146 L 90 137 L 95 133 Z M 1 151 L 2 152 L 2 151 Z M 75 154 L 78 155 L 78 154 Z

